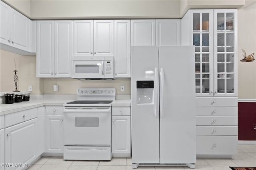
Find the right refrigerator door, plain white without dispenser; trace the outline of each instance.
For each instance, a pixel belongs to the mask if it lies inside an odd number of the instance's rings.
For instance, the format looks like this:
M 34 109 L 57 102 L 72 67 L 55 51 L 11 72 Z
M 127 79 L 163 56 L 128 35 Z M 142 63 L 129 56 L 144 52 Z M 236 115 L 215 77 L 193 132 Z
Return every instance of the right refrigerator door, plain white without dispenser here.
M 194 46 L 160 46 L 160 163 L 196 162 Z

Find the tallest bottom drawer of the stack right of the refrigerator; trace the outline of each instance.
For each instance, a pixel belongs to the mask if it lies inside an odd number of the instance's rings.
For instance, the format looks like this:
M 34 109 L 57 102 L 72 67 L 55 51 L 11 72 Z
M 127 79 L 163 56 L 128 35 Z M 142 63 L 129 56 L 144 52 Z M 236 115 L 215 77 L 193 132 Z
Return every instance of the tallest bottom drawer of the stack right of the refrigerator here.
M 237 154 L 237 136 L 196 136 L 196 154 Z

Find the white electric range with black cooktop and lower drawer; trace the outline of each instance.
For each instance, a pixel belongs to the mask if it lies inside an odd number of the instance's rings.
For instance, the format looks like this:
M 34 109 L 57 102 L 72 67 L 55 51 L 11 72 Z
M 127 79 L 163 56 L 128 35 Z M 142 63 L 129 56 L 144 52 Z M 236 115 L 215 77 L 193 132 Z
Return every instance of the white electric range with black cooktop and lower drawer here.
M 79 88 L 64 106 L 64 160 L 111 160 L 111 103 L 115 88 Z

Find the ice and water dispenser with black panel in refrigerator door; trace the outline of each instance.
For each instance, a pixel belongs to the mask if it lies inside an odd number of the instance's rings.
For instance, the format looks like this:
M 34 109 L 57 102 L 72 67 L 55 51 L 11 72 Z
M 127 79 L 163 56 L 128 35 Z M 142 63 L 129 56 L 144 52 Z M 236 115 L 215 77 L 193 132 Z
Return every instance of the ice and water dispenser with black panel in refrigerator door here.
M 137 81 L 137 104 L 153 104 L 154 81 Z

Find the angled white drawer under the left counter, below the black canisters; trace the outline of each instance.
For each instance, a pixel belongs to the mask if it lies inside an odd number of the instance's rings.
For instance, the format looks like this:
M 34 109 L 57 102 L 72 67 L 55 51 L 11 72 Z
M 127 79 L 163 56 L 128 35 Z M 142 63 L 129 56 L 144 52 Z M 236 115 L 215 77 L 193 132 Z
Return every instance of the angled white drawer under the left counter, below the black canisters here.
M 5 127 L 10 127 L 37 117 L 37 108 L 5 115 Z

